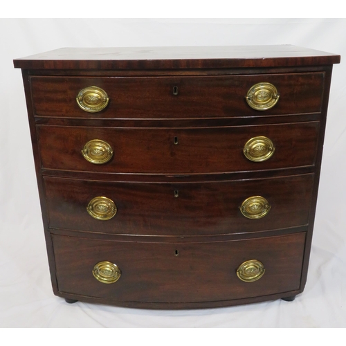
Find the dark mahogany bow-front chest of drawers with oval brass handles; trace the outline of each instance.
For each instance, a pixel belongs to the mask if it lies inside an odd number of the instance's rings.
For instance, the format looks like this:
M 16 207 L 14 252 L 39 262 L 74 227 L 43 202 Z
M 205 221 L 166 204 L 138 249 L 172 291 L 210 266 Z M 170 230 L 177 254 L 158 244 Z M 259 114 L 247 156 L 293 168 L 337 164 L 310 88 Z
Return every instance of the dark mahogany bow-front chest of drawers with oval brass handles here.
M 153 309 L 293 300 L 338 62 L 295 46 L 15 60 L 55 295 Z

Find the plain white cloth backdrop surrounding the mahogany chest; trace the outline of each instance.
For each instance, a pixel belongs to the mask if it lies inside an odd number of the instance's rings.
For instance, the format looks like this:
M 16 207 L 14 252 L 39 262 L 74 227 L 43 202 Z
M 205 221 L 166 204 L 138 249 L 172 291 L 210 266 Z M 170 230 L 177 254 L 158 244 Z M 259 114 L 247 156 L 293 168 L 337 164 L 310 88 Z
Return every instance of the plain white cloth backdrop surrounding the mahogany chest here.
M 346 19 L 0 19 L 0 327 L 346 327 Z M 17 57 L 61 47 L 293 44 L 334 65 L 307 286 L 294 302 L 150 311 L 53 295 Z

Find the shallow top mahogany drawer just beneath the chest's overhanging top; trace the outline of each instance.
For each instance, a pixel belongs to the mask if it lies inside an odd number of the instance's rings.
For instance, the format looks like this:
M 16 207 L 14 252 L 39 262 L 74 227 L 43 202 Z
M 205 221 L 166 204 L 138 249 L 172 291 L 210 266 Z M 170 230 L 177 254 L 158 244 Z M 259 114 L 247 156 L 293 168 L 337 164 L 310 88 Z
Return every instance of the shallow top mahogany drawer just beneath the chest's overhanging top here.
M 33 76 L 30 77 L 30 85 L 36 116 L 222 118 L 320 113 L 324 76 L 322 72 L 131 78 Z M 246 95 L 252 86 L 262 82 L 273 84 L 280 98 L 273 108 L 258 111 L 248 105 Z M 106 96 L 102 95 L 102 91 L 86 89 L 90 86 L 102 89 Z M 109 98 L 107 106 L 93 113 L 84 111 L 76 100 L 82 90 L 82 107 L 84 104 L 92 111 L 100 109 L 107 104 L 102 101 L 103 97 Z M 92 100 L 97 106 L 94 109 Z

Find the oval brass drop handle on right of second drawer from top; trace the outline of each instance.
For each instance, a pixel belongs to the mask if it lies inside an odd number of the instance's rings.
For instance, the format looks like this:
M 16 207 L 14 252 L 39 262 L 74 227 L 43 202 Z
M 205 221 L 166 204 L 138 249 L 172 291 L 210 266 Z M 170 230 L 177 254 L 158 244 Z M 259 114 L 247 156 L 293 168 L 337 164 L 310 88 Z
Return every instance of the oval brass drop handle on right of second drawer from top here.
M 248 160 L 262 162 L 273 156 L 275 147 L 268 137 L 257 136 L 245 143 L 243 152 Z

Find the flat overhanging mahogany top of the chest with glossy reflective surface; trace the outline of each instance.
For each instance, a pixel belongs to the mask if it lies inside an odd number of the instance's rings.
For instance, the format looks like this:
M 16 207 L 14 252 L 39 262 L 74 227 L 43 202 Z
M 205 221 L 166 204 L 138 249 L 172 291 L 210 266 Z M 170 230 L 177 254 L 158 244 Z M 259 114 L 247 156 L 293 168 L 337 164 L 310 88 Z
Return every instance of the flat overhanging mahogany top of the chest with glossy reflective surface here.
M 339 62 L 340 55 L 291 45 L 60 48 L 14 60 L 20 69 L 212 69 Z

